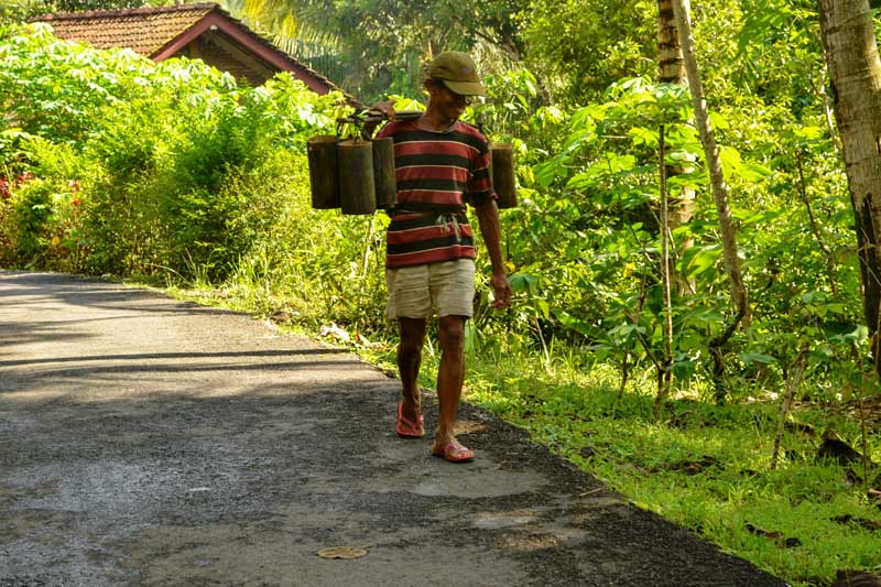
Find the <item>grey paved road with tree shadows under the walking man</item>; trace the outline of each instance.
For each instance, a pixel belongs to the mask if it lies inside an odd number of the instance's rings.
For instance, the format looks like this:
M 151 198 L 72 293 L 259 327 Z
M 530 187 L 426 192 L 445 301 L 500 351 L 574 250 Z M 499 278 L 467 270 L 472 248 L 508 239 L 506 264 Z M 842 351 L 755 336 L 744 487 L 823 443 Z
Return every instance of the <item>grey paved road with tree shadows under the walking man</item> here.
M 431 457 L 398 390 L 247 316 L 0 272 L 0 586 L 782 585 L 469 406 L 478 459 Z

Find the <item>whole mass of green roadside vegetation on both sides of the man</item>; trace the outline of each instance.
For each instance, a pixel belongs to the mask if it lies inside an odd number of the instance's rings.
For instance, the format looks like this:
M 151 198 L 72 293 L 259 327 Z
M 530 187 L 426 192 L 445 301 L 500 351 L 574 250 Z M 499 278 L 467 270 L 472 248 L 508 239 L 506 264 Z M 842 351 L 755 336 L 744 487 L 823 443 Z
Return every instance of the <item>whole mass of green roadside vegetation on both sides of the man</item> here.
M 490 311 L 479 283 L 466 399 L 794 585 L 881 573 L 881 392 L 816 14 L 695 7 L 750 302 L 722 340 L 732 301 L 688 88 L 653 78 L 655 4 L 624 4 L 589 32 L 555 19 L 600 22 L 599 3 L 524 3 L 532 57 L 492 69 L 466 115 L 513 144 L 520 184 L 502 213 L 514 304 Z M 306 140 L 336 132 L 341 96 L 62 42 L 24 12 L 0 13 L 0 268 L 164 287 L 394 369 L 387 218 L 311 209 Z M 392 86 L 416 107 L 412 80 Z

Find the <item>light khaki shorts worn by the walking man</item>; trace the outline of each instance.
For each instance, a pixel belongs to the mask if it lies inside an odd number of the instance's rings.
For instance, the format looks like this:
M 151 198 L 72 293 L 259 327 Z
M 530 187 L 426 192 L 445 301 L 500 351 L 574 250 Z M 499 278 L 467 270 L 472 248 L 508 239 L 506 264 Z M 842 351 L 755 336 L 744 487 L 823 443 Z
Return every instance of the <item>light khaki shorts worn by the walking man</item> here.
M 475 262 L 471 259 L 385 270 L 385 316 L 431 318 L 474 314 Z

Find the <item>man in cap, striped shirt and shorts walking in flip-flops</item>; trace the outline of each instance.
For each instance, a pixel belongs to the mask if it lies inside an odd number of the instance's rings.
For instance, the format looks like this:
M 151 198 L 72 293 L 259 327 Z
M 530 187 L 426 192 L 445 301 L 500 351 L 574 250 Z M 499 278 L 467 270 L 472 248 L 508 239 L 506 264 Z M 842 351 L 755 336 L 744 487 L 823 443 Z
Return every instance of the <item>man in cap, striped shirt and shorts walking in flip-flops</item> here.
M 378 138 L 394 140 L 398 204 L 387 233 L 387 314 L 400 325 L 398 367 L 403 400 L 398 405 L 399 436 L 425 436 L 416 378 L 426 323 L 439 317 L 437 374 L 439 422 L 432 454 L 452 463 L 474 459 L 474 450 L 454 434 L 465 379 L 465 323 L 474 313 L 475 247 L 466 204 L 477 214 L 492 265 L 492 307 L 507 307 L 511 286 L 502 264 L 499 209 L 489 172 L 486 137 L 459 120 L 471 96 L 486 94 L 471 57 L 437 55 L 427 69 L 428 106 L 417 120 L 395 121 L 392 102 L 372 110 L 390 122 Z

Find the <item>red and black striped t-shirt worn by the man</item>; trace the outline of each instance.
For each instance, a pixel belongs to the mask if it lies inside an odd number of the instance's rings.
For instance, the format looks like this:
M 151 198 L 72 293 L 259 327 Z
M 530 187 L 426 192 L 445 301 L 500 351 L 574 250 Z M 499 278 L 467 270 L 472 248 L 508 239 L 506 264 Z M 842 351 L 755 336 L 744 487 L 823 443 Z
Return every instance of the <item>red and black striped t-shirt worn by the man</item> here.
M 398 205 L 390 210 L 385 233 L 385 267 L 474 259 L 465 205 L 497 197 L 487 138 L 458 120 L 445 131 L 392 121 L 377 137 L 394 140 L 398 182 Z

